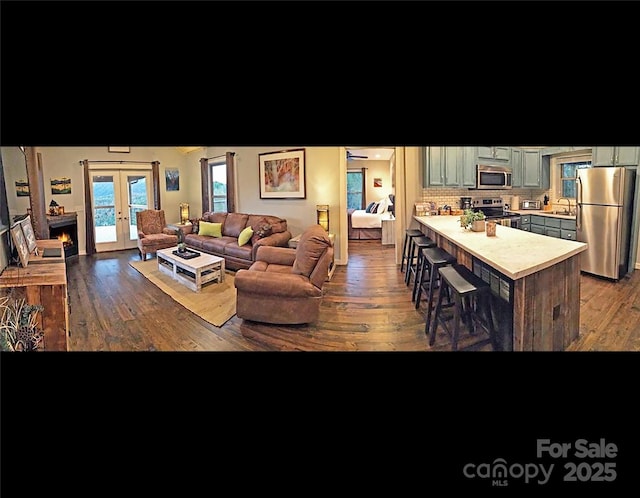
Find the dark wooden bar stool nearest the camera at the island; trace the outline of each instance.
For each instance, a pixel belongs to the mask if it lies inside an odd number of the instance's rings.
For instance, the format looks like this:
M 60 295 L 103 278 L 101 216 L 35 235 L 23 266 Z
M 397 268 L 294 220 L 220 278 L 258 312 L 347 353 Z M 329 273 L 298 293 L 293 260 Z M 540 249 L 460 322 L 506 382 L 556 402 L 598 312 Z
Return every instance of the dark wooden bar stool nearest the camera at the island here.
M 439 273 L 441 289 L 429 334 L 429 345 L 433 346 L 438 325 L 442 325 L 451 337 L 451 349 L 457 351 L 460 320 L 463 320 L 469 334 L 475 335 L 476 326 L 479 325 L 488 332 L 493 349 L 499 349 L 491 316 L 491 286 L 464 265 L 445 266 L 440 268 Z M 442 313 L 443 287 L 449 289 L 453 301 L 453 330 L 447 326 L 448 320 Z

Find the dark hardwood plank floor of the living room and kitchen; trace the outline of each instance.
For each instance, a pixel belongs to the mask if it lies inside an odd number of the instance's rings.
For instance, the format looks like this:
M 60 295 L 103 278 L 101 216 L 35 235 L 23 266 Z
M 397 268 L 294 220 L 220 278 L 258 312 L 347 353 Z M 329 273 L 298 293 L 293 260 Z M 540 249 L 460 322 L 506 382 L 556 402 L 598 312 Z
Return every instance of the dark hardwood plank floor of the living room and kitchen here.
M 173 301 L 129 266 L 135 249 L 68 263 L 71 351 L 448 351 L 430 347 L 424 309 L 380 241 L 350 241 L 349 264 L 325 284 L 316 323 L 273 326 L 233 317 L 218 328 Z M 570 351 L 640 350 L 640 271 L 618 283 L 583 275 L 580 337 Z M 487 350 L 484 337 L 460 348 Z

